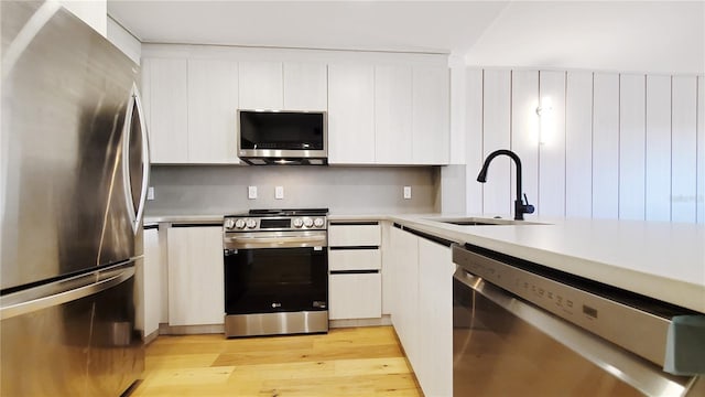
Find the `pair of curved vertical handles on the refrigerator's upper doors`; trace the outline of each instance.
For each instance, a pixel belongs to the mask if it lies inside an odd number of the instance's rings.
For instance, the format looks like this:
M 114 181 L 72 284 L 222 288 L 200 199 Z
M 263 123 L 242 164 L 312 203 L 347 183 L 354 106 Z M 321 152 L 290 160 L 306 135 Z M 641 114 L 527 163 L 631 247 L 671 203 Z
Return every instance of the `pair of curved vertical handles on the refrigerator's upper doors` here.
M 124 191 L 126 191 L 126 201 L 128 203 L 128 214 L 130 216 L 130 221 L 132 224 L 132 232 L 134 234 L 138 233 L 140 223 L 142 222 L 142 216 L 144 215 L 144 204 L 147 202 L 147 192 L 149 189 L 149 174 L 150 174 L 150 148 L 149 148 L 149 138 L 147 133 L 147 125 L 144 122 L 144 112 L 142 111 L 142 100 L 140 99 L 140 92 L 137 88 L 135 84 L 132 84 L 132 93 L 130 95 L 130 103 L 128 105 L 126 122 L 124 122 L 124 133 L 122 140 L 122 167 L 123 167 L 123 175 L 124 175 Z M 137 122 L 139 124 L 139 140 L 133 141 L 132 133 L 134 131 L 134 120 L 133 117 L 137 116 Z M 134 146 L 139 144 L 141 149 L 139 153 L 134 153 Z M 132 178 L 135 170 L 132 168 L 132 155 L 140 155 L 140 164 L 141 164 L 141 183 L 140 183 L 140 195 L 134 202 L 133 196 L 133 187 L 132 187 Z

